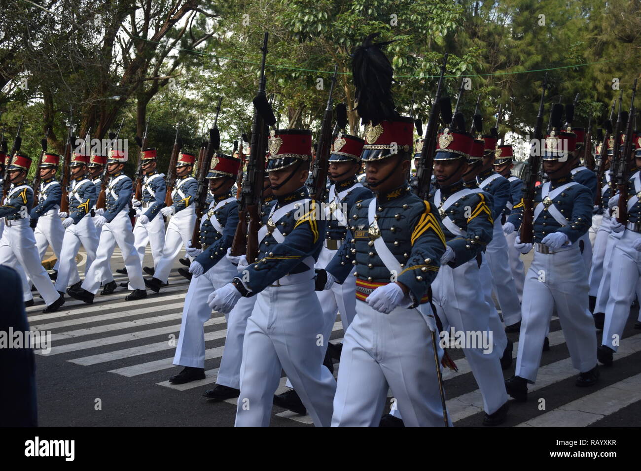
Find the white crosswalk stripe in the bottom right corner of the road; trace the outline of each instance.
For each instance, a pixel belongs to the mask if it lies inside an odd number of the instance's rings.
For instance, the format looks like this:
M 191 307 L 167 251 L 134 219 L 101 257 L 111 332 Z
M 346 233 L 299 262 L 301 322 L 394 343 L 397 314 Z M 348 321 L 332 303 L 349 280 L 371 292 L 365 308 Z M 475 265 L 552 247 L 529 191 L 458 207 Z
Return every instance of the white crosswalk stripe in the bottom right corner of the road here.
M 641 373 L 522 422 L 517 427 L 587 427 L 641 400 Z

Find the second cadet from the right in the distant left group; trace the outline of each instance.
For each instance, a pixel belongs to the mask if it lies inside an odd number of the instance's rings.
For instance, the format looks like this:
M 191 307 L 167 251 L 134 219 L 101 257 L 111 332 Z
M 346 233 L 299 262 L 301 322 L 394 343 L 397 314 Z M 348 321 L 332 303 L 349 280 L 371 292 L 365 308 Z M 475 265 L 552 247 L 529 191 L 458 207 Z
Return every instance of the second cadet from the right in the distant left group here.
M 167 185 L 163 174 L 159 174 L 156 171 L 156 149 L 154 147 L 142 149 L 140 158 L 142 158 L 144 179 L 142 182 L 142 201 L 131 200 L 131 205 L 135 208 L 138 216 L 136 225 L 133 227 L 133 236 L 135 238 L 133 246 L 138 252 L 140 265 L 142 265 L 147 242 L 149 242 L 155 268 L 162 257 L 162 250 L 165 245 L 165 221 L 162 215 L 158 215 L 158 213 L 165 206 Z M 144 270 L 147 272 L 147 267 Z

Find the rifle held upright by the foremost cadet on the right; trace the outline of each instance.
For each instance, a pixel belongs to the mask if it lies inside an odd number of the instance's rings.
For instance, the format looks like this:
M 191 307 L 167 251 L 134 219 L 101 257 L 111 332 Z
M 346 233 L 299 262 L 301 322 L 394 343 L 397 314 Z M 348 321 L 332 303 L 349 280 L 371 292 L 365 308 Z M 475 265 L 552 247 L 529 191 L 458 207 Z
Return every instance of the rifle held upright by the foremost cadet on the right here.
M 534 141 L 529 150 L 529 159 L 526 164 L 523 181 L 523 217 L 520 226 L 520 241 L 524 244 L 531 244 L 534 241 L 533 235 L 533 217 L 534 217 L 534 194 L 537 185 L 538 167 L 541 160 L 543 149 L 543 110 L 545 100 L 545 88 L 547 87 L 547 73 L 543 79 L 543 90 L 541 92 L 541 101 L 538 104 L 537 124 L 534 128 Z M 537 149 L 538 147 L 538 149 Z

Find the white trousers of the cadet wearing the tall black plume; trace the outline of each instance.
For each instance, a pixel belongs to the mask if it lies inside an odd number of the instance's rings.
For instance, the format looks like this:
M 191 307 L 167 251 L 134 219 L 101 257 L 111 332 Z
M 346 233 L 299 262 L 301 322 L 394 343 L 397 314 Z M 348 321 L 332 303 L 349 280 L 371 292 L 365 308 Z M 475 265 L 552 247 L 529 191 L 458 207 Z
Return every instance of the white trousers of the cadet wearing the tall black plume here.
M 331 426 L 378 427 L 391 389 L 406 426 L 444 427 L 433 348 L 419 311 L 383 314 L 356 301 L 340 354 Z

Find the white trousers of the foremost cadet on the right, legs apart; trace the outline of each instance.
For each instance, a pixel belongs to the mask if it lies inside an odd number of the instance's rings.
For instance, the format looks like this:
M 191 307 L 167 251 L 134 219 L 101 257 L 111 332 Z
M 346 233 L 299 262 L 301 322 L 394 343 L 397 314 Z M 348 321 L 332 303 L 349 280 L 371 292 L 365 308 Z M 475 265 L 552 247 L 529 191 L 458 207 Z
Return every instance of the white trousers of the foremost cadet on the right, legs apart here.
M 554 254 L 534 253 L 523 291 L 516 376 L 534 383 L 554 308 L 572 365 L 581 372 L 597 364 L 594 318 L 588 311 L 588 276 L 578 244 Z

